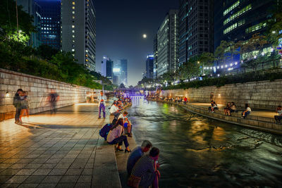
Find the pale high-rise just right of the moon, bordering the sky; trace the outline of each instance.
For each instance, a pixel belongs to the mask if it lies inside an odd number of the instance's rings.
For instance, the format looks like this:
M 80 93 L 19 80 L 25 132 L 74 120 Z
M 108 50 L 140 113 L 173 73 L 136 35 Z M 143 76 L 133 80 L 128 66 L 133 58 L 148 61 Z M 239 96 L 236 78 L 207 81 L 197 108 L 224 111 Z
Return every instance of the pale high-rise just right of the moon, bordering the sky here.
M 170 10 L 157 32 L 157 76 L 178 68 L 178 10 Z

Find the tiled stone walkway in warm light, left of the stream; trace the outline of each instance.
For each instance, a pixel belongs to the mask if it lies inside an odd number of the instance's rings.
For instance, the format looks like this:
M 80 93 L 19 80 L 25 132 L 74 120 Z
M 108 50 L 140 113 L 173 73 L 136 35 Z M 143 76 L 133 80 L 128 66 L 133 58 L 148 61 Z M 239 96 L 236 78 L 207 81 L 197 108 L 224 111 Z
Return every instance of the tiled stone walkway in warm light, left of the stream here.
M 103 187 L 101 169 L 94 168 L 101 158 L 97 147 L 104 149 L 98 145 L 104 119 L 97 119 L 97 104 L 60 108 L 56 115 L 30 115 L 23 122 L 0 122 L 0 187 Z M 114 146 L 105 148 L 114 156 Z M 118 179 L 116 163 L 110 167 L 109 174 Z

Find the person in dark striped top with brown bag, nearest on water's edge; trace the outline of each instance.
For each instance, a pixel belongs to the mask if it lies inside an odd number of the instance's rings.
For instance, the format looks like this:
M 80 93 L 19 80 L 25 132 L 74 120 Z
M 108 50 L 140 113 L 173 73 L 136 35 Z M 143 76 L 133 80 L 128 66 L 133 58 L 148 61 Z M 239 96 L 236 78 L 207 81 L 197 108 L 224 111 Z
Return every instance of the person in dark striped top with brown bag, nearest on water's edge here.
M 149 155 L 142 156 L 134 165 L 132 173 L 128 179 L 130 187 L 159 187 L 159 178 L 161 177 L 159 164 L 159 149 L 153 147 Z

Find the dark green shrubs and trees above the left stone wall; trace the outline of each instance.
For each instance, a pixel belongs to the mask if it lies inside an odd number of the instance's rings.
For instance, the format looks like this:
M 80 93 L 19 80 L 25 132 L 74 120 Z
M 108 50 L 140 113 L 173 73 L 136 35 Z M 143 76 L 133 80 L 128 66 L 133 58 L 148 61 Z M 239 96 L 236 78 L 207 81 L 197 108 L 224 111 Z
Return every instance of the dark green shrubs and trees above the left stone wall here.
M 6 39 L 0 42 L 0 68 L 39 77 L 77 84 L 91 89 L 102 89 L 94 82 L 95 77 L 82 65 L 76 63 L 73 54 L 56 51 L 49 46 L 33 49 L 23 42 Z M 48 55 L 49 54 L 49 55 Z M 111 86 L 106 89 L 112 90 Z

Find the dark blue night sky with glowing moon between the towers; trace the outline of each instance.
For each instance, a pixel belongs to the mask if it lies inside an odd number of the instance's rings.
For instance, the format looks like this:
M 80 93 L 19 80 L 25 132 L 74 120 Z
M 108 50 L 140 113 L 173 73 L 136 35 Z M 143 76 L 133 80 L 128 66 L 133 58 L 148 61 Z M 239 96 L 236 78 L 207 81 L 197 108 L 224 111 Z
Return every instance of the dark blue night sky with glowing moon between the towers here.
M 153 52 L 153 39 L 170 8 L 178 0 L 96 0 L 96 71 L 101 72 L 103 56 L 113 61 L 128 59 L 128 85 L 136 85 L 145 71 L 147 54 Z M 147 34 L 147 39 L 142 34 Z

